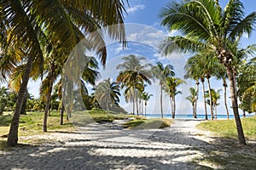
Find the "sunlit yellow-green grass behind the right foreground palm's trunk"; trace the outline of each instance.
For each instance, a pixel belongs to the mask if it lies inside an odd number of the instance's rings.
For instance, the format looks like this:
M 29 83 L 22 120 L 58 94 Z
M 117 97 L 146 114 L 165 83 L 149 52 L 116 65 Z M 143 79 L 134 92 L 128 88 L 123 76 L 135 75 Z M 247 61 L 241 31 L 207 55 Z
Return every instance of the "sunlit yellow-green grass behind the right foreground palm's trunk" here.
M 243 132 L 247 139 L 256 139 L 256 116 L 241 118 Z M 208 130 L 217 133 L 224 138 L 237 138 L 236 122 L 235 120 L 216 120 L 201 122 L 197 125 L 202 130 Z

